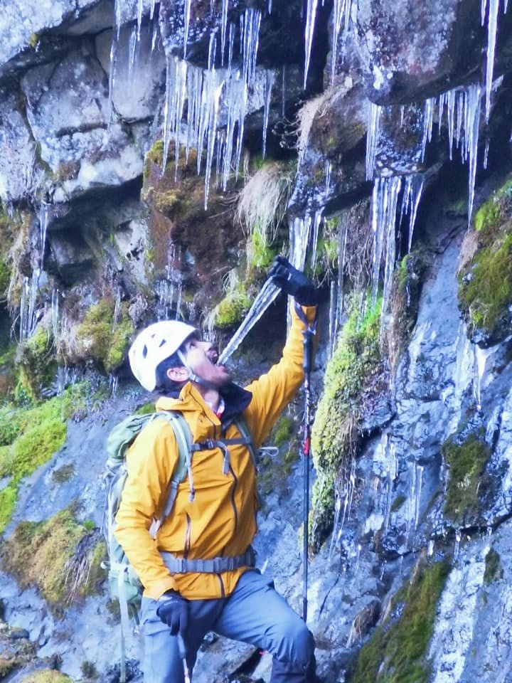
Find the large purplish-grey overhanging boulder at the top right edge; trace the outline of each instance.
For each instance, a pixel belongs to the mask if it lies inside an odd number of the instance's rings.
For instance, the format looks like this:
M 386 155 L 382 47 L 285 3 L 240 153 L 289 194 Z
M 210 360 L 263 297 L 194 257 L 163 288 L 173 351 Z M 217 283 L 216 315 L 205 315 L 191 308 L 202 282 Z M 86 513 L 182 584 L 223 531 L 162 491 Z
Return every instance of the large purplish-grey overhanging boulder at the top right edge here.
M 485 34 L 477 0 L 428 5 L 420 0 L 363 0 L 356 23 L 358 54 L 372 102 L 422 100 L 464 83 L 480 70 Z

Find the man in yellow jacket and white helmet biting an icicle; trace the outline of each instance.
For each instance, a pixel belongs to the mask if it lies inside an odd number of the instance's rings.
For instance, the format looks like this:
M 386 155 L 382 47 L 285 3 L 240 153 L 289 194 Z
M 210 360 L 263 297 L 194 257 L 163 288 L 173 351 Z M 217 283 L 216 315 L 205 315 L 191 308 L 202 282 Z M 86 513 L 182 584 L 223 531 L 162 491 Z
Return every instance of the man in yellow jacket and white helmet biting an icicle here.
M 254 568 L 250 548 L 255 466 L 236 417 L 242 415 L 259 448 L 302 383 L 302 331 L 316 317 L 316 291 L 302 272 L 278 257 L 269 277 L 302 306 L 292 314 L 282 359 L 246 388 L 230 381 L 216 347 L 183 322 L 150 325 L 129 351 L 144 388 L 166 393 L 156 410 L 181 411 L 198 445 L 155 539 L 149 529 L 161 517 L 178 459 L 169 423 L 151 421 L 127 456 L 115 535 L 144 586 L 145 683 L 183 683 L 182 657 L 191 671 L 210 630 L 270 652 L 272 683 L 315 680 L 313 637 Z

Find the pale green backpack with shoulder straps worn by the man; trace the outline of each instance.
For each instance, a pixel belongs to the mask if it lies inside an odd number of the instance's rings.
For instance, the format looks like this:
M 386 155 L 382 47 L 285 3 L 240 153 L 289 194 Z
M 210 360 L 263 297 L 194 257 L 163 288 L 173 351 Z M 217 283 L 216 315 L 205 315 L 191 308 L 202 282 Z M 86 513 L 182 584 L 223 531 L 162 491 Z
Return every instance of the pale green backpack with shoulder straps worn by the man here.
M 142 583 L 134 571 L 134 568 L 124 554 L 122 546 L 119 545 L 115 536 L 115 517 L 121 502 L 122 490 L 127 480 L 126 456 L 129 447 L 134 443 L 139 432 L 152 420 L 167 420 L 174 430 L 176 443 L 178 445 L 178 463 L 174 474 L 169 482 L 166 505 L 164 512 L 156 524 L 161 525 L 166 517 L 171 514 L 178 485 L 185 480 L 188 475 L 190 484 L 190 498 L 193 500 L 194 489 L 192 479 L 192 455 L 201 448 L 211 448 L 212 445 L 228 445 L 230 443 L 245 443 L 249 448 L 253 462 L 256 465 L 255 448 L 252 444 L 252 437 L 244 418 L 238 416 L 235 424 L 242 434 L 242 439 L 232 439 L 222 441 L 207 441 L 205 443 L 193 444 L 192 435 L 188 424 L 179 411 L 159 411 L 156 413 L 146 413 L 144 415 L 129 415 L 121 423 L 116 425 L 107 437 L 107 463 L 105 466 L 106 499 L 105 510 L 103 513 L 102 531 L 107 542 L 108 561 L 104 563 L 108 570 L 108 581 L 112 598 L 119 600 L 121 612 L 121 674 L 120 682 L 126 680 L 126 657 L 124 647 L 124 633 L 129 627 L 129 618 L 134 618 L 138 623 L 138 613 L 142 598 Z M 224 448 L 225 457 L 228 457 L 228 449 Z M 158 529 L 158 526 L 156 527 Z

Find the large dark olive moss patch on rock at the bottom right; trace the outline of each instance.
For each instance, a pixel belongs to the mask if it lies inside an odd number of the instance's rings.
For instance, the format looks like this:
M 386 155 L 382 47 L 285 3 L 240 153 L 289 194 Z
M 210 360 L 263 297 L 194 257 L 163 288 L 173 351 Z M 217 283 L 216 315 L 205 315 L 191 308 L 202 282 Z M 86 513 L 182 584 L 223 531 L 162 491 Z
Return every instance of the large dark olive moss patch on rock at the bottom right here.
M 428 682 L 427 648 L 448 573 L 444 561 L 422 568 L 395 595 L 385 622 L 361 648 L 353 683 Z

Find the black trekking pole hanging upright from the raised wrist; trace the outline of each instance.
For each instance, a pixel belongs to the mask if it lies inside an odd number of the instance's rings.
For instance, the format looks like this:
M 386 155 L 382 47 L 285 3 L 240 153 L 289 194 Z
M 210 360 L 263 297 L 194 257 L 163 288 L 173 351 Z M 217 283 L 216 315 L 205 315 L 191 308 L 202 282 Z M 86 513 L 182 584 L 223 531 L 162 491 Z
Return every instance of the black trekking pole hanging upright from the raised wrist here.
M 309 552 L 309 470 L 311 467 L 311 367 L 313 365 L 313 337 L 316 331 L 316 319 L 309 325 L 299 305 L 295 306 L 297 314 L 306 324 L 302 331 L 304 369 L 304 430 L 302 433 L 302 459 L 304 465 L 304 546 L 302 549 L 302 618 L 307 621 L 307 588 L 308 588 L 308 552 Z

